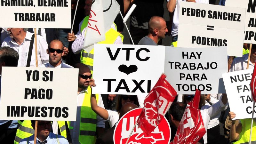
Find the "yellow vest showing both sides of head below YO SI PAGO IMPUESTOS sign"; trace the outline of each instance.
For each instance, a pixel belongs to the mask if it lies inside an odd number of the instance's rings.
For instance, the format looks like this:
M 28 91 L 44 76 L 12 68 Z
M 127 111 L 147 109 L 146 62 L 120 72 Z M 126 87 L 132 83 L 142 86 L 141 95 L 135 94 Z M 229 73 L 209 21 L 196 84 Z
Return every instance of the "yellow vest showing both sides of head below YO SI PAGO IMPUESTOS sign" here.
M 58 121 L 58 125 L 60 128 L 60 134 L 63 137 L 67 138 L 67 130 L 66 130 L 65 121 Z M 23 122 L 18 121 L 18 129 L 17 129 L 16 136 L 14 139 L 14 144 L 19 144 L 19 142 L 22 139 L 28 138 L 33 134 L 35 134 L 35 131 L 34 131 L 33 127 L 31 126 L 30 120 L 24 120 Z

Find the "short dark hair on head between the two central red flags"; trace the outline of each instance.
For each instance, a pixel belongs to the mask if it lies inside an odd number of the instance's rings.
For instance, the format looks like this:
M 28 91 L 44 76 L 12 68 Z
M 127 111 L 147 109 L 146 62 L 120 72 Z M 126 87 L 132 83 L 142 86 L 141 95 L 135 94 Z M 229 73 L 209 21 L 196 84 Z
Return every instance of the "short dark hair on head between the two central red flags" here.
M 169 115 L 171 114 L 173 119 L 180 122 L 186 107 L 187 104 L 184 102 L 173 102 L 171 107 L 169 108 Z

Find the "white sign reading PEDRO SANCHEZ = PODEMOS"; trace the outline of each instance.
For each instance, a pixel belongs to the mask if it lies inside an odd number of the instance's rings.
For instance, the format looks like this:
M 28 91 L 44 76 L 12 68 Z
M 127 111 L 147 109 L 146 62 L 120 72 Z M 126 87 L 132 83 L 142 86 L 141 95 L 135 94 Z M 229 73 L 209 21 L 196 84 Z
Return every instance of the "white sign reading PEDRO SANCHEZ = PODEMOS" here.
M 180 2 L 178 47 L 228 46 L 242 57 L 245 9 Z

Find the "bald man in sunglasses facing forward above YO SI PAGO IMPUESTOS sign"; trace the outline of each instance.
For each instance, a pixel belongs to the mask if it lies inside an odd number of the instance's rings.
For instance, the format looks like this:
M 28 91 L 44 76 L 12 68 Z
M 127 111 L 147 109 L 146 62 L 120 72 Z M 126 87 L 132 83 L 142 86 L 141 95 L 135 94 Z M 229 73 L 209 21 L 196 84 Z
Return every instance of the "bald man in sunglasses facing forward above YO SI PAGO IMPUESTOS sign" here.
M 42 68 L 73 68 L 72 66 L 62 62 L 61 57 L 64 56 L 63 43 L 58 40 L 52 40 L 46 53 L 49 55 L 49 62 L 41 65 Z

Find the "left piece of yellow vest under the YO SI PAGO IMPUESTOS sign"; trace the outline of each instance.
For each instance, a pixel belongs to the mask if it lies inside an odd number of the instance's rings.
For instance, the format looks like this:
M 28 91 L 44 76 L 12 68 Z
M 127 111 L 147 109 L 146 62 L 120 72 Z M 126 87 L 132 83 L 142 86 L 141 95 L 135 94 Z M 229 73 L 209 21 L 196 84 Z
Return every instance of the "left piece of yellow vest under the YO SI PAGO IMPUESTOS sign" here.
M 20 124 L 20 121 L 18 121 Z M 30 137 L 35 133 L 33 127 L 31 126 L 31 121 L 30 120 L 24 120 L 20 126 L 18 126 L 16 136 L 14 139 L 14 144 L 19 144 L 19 142 L 22 139 L 25 139 L 27 137 Z

